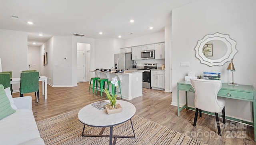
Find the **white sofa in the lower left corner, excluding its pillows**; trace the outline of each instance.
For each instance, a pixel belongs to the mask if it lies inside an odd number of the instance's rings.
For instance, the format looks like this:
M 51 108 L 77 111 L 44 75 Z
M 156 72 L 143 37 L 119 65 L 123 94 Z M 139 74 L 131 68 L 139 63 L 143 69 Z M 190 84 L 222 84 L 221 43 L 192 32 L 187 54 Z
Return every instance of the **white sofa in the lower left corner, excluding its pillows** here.
M 0 145 L 44 145 L 32 112 L 32 98 L 13 98 L 16 112 L 0 120 Z

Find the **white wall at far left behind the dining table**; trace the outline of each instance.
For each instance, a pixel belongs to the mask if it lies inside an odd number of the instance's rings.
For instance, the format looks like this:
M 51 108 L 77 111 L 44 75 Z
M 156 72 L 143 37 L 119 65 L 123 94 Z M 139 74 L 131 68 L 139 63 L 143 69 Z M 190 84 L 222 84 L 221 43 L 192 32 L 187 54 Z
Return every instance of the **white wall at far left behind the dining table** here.
M 28 34 L 13 30 L 0 29 L 0 58 L 2 71 L 12 71 L 12 77 L 20 77 L 27 70 Z M 14 92 L 20 84 L 12 85 Z

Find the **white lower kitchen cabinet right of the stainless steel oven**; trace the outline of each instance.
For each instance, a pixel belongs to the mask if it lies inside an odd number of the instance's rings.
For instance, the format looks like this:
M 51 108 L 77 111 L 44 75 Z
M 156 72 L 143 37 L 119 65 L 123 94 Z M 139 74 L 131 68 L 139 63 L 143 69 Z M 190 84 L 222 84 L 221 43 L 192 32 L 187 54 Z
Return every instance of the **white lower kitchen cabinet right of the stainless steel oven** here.
M 164 91 L 164 71 L 151 70 L 151 87 Z

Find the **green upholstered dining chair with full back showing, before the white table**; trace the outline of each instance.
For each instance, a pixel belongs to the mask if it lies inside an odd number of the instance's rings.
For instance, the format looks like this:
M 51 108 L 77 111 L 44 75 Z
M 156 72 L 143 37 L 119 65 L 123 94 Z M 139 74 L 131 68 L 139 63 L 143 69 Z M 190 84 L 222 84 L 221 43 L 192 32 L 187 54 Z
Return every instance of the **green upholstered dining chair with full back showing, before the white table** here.
M 24 93 L 36 92 L 36 102 L 39 101 L 39 72 L 22 72 L 20 73 L 20 97 Z

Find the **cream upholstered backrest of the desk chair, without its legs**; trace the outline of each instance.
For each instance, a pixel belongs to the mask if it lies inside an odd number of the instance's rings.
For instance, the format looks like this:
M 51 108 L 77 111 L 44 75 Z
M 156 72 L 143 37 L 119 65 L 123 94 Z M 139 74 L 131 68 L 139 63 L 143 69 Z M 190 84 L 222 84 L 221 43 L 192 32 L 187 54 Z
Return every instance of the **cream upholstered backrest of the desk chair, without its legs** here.
M 195 91 L 194 105 L 198 109 L 209 112 L 221 112 L 217 94 L 221 89 L 221 81 L 208 79 L 190 79 Z

